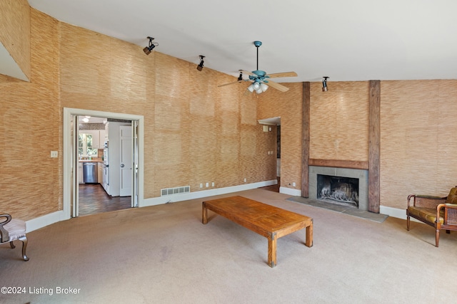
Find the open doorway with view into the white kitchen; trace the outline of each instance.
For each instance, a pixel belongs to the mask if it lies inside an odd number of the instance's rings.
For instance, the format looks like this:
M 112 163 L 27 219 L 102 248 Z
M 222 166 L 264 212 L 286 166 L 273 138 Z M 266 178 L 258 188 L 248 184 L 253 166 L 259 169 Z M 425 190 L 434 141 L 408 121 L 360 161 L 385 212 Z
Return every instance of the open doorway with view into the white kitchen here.
M 134 122 L 90 115 L 76 116 L 74 119 L 78 130 L 76 155 L 79 164 L 76 179 L 79 199 L 76 202 L 77 215 L 72 216 L 131 208 Z M 111 145 L 108 147 L 109 142 Z M 119 164 L 116 163 L 119 160 L 120 174 Z M 120 182 L 116 180 L 119 178 Z

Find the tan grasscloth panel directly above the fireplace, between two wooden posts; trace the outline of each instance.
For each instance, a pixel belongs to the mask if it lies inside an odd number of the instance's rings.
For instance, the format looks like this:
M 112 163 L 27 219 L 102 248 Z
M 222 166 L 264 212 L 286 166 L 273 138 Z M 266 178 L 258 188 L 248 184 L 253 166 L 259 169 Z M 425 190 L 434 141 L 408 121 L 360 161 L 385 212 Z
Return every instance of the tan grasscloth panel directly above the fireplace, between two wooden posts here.
M 311 83 L 310 93 L 309 157 L 368 161 L 368 82 Z

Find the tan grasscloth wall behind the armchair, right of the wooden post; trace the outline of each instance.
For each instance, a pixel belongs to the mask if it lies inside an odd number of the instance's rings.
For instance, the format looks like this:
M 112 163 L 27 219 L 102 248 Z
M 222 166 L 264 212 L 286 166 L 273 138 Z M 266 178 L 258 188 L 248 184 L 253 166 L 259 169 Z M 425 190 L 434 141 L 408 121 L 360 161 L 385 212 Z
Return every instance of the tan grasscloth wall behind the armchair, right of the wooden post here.
M 457 184 L 457 80 L 381 82 L 381 205 Z

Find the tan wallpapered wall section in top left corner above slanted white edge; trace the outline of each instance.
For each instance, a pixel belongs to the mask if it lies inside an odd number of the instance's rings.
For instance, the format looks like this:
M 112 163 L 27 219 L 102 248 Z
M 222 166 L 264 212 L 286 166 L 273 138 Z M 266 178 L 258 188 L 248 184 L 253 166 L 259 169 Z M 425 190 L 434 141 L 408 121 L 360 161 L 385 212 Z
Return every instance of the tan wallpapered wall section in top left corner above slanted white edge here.
M 27 0 L 0 1 L 0 43 L 29 79 L 31 78 L 30 11 Z

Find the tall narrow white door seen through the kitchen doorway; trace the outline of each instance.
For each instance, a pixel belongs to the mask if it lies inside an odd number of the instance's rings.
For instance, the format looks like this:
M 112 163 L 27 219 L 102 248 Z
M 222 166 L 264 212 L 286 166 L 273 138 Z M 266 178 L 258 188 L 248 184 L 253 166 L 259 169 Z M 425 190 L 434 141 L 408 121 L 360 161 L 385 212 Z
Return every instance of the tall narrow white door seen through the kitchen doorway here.
M 121 146 L 121 174 L 120 178 L 120 196 L 131 196 L 132 188 L 132 128 L 131 126 L 119 127 L 119 142 Z

